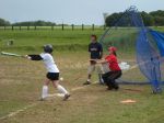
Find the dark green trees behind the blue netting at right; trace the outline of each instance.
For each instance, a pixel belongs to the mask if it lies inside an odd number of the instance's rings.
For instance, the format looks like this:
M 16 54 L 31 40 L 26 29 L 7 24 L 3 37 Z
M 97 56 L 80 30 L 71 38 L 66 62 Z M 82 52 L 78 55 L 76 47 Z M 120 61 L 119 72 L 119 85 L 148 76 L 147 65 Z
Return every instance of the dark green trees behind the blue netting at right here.
M 149 13 L 142 11 L 139 13 L 142 16 L 145 26 L 164 26 L 164 11 L 157 10 Z M 118 22 L 120 18 L 121 18 L 121 22 Z M 115 24 L 117 24 L 117 26 L 132 25 L 128 13 L 124 14 L 122 12 L 113 13 L 108 15 L 105 20 L 105 24 L 107 26 L 114 26 Z

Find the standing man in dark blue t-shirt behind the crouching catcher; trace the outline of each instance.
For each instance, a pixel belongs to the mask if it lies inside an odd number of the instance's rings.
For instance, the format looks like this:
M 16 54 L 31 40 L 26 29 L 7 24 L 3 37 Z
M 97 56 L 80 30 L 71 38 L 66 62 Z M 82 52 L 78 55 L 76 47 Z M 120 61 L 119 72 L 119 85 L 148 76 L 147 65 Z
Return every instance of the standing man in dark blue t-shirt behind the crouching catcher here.
M 101 43 L 97 42 L 96 35 L 91 35 L 91 43 L 89 44 L 89 53 L 90 53 L 90 59 L 93 59 L 93 60 L 90 62 L 89 71 L 87 71 L 87 74 L 89 74 L 87 80 L 83 85 L 91 83 L 91 76 L 95 69 L 98 74 L 99 83 L 103 83 L 102 66 L 96 65 L 96 63 L 95 63 L 95 59 L 102 59 L 102 57 L 103 57 L 103 46 Z

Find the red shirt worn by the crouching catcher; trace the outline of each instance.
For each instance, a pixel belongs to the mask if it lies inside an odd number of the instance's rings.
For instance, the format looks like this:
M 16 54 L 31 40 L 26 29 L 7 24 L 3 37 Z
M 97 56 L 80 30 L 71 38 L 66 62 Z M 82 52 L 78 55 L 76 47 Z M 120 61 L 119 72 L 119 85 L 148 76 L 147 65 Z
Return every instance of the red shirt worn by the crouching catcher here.
M 119 71 L 121 70 L 119 65 L 118 65 L 118 62 L 117 62 L 117 57 L 115 55 L 108 55 L 105 57 L 105 59 L 108 62 L 109 64 L 109 69 L 112 71 Z

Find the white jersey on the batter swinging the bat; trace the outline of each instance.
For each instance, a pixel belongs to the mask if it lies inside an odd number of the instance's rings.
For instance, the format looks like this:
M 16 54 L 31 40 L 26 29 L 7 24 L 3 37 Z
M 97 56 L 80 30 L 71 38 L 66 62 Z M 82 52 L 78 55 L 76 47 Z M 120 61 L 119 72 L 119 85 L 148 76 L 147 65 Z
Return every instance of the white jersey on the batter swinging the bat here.
M 55 64 L 55 60 L 50 54 L 42 53 L 40 57 L 43 58 L 43 62 L 44 62 L 48 72 L 59 72 L 59 69 L 58 69 L 57 65 Z

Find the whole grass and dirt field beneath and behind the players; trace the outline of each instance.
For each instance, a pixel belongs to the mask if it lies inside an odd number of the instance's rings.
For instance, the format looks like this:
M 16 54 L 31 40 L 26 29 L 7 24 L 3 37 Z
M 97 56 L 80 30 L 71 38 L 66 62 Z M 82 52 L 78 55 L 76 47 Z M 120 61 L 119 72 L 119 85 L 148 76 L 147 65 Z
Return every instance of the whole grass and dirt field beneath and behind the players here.
M 152 94 L 150 86 L 120 86 L 119 91 L 106 91 L 97 83 L 82 86 L 86 80 L 90 35 L 102 33 L 103 30 L 0 31 L 1 51 L 40 53 L 44 44 L 52 44 L 63 77 L 61 83 L 72 94 L 67 102 L 59 97 L 38 101 L 46 74 L 43 63 L 0 56 L 0 123 L 163 123 L 164 94 Z M 9 40 L 14 40 L 13 46 L 7 46 Z M 134 52 L 118 52 L 119 60 L 136 64 Z M 122 78 L 143 80 L 138 68 Z M 96 75 L 92 80 L 97 80 Z M 57 91 L 50 87 L 49 93 Z M 137 103 L 121 104 L 126 99 Z

